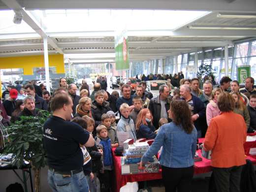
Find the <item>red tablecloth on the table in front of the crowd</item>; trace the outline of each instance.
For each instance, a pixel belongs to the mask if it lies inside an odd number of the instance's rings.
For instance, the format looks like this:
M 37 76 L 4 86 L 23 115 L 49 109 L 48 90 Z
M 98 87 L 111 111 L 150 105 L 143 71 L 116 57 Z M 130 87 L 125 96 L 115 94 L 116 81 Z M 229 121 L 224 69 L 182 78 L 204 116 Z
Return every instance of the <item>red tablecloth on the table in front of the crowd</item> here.
M 203 140 L 204 138 L 200 138 L 199 143 L 202 143 Z M 251 148 L 252 146 L 256 145 L 256 141 L 254 142 L 254 144 L 252 142 L 249 142 L 248 144 L 246 143 L 245 143 L 245 151 L 248 147 Z M 113 154 L 113 162 L 114 162 L 115 177 L 116 177 L 116 192 L 119 192 L 120 188 L 125 186 L 128 182 L 149 181 L 149 180 L 156 180 L 156 179 L 162 178 L 161 169 L 158 173 L 139 173 L 139 174 L 122 175 L 121 157 L 115 156 L 114 150 L 115 148 L 112 149 L 112 154 Z M 197 150 L 197 153 L 198 153 L 198 156 L 202 158 L 202 160 L 194 163 L 194 174 L 202 174 L 202 173 L 208 173 L 212 171 L 211 160 L 203 158 L 201 155 L 201 150 Z M 256 164 L 255 156 L 248 155 L 247 159 L 251 160 L 254 164 Z

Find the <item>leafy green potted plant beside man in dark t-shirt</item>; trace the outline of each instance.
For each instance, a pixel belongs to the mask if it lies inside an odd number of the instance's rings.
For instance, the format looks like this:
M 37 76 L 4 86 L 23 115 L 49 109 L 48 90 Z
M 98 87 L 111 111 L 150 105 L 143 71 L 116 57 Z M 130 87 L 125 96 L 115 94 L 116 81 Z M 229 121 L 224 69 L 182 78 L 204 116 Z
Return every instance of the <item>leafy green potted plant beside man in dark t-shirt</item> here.
M 5 144 L 4 153 L 14 154 L 13 164 L 20 168 L 24 161 L 28 161 L 34 170 L 35 192 L 40 191 L 40 169 L 46 165 L 45 150 L 43 148 L 43 125 L 49 113 L 40 111 L 40 115 L 21 116 L 9 127 L 8 142 Z

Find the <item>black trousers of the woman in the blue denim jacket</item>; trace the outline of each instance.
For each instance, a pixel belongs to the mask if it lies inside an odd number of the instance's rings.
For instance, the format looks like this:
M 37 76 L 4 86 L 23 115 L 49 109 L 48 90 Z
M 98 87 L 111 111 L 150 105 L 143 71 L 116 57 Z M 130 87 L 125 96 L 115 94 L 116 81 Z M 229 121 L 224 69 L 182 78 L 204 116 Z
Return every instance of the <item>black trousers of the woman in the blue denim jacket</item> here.
M 194 166 L 185 168 L 170 168 L 162 166 L 162 180 L 165 192 L 190 192 Z

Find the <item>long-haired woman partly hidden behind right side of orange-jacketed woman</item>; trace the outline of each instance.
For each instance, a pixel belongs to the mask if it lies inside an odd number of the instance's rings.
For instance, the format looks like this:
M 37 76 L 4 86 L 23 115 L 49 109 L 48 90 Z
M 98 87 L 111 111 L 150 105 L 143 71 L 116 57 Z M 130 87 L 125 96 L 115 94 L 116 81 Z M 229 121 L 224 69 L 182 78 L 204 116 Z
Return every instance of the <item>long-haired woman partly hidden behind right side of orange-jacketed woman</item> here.
M 241 96 L 238 92 L 232 92 L 231 96 L 235 101 L 234 113 L 237 113 L 243 116 L 246 123 L 246 127 L 248 129 L 250 126 L 250 114 L 249 114 L 248 108 L 243 103 L 242 99 L 240 98 Z

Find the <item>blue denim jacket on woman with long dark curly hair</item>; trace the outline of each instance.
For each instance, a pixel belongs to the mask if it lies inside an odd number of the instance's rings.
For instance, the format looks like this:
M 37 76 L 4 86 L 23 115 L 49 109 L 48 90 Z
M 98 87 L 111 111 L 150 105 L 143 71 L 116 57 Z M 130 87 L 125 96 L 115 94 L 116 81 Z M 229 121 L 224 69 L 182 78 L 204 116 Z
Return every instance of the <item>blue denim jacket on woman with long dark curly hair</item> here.
M 188 134 L 181 128 L 181 125 L 177 126 L 173 122 L 164 124 L 141 160 L 148 162 L 162 146 L 161 165 L 173 168 L 190 167 L 194 164 L 196 138 L 197 131 L 195 128 L 193 128 L 192 133 Z

